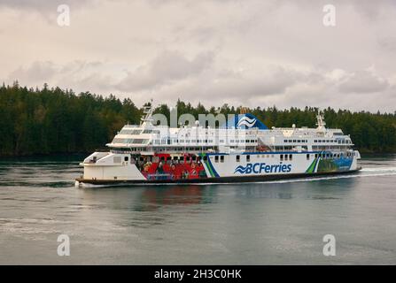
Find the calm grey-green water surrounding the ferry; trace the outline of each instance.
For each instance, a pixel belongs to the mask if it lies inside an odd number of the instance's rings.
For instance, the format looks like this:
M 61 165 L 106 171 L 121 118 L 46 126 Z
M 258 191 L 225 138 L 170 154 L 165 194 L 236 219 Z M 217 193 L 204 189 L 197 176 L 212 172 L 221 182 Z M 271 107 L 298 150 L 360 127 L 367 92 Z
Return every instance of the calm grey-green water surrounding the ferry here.
M 396 264 L 396 156 L 321 180 L 76 188 L 80 158 L 0 160 L 0 264 Z

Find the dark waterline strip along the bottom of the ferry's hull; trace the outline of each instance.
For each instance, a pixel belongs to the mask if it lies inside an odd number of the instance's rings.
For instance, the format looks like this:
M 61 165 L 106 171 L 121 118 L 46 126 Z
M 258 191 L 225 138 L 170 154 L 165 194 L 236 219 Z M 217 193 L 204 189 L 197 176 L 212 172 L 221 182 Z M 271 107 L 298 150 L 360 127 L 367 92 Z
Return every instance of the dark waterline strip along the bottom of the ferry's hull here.
M 100 185 L 100 186 L 139 186 L 139 185 L 190 185 L 190 184 L 231 184 L 231 183 L 253 183 L 273 180 L 315 179 L 324 176 L 348 175 L 359 172 L 361 167 L 338 172 L 313 172 L 313 173 L 290 173 L 270 175 L 229 176 L 215 178 L 179 179 L 179 180 L 88 180 L 76 178 L 78 184 Z

